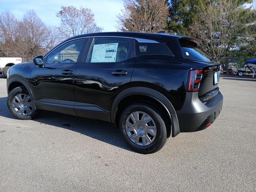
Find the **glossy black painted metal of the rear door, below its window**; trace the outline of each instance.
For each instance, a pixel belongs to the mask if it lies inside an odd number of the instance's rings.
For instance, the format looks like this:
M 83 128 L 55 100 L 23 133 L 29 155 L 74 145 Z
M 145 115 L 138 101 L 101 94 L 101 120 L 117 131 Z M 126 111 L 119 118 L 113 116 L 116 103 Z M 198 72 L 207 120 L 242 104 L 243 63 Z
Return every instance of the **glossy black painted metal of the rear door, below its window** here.
M 130 62 L 111 65 L 104 63 L 80 64 L 75 78 L 76 102 L 97 104 L 110 111 L 117 94 L 130 86 L 134 62 L 134 60 L 130 60 Z M 127 75 L 114 76 L 111 74 L 117 70 L 126 71 Z

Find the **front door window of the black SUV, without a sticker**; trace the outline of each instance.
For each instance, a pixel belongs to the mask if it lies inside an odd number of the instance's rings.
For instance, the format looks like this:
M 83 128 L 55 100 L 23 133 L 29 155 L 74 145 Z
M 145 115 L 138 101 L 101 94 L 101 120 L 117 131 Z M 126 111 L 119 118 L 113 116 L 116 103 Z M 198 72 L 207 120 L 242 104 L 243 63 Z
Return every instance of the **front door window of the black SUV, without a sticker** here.
M 46 60 L 46 63 L 76 63 L 82 47 L 88 38 L 76 39 L 63 44 L 51 52 Z

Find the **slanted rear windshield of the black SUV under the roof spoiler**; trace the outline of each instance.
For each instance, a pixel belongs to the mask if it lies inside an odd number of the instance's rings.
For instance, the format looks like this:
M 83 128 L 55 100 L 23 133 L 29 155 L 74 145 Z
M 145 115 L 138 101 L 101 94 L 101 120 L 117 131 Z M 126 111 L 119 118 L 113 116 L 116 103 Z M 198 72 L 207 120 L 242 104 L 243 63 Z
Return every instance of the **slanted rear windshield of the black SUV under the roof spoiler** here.
M 184 58 L 196 60 L 196 61 L 203 61 L 203 62 L 210 62 L 211 58 L 207 56 L 204 52 L 202 52 L 196 43 L 193 43 L 189 40 L 179 40 L 180 46 L 182 49 L 182 54 Z

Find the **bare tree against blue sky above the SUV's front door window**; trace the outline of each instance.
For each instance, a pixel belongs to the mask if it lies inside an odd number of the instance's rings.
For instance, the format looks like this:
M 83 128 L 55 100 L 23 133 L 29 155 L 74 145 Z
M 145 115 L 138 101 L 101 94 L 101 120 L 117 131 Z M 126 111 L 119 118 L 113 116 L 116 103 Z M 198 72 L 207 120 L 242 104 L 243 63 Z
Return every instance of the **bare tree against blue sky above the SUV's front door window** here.
M 102 31 L 102 28 L 95 23 L 92 10 L 88 8 L 80 7 L 77 9 L 74 6 L 62 6 L 56 16 L 60 18 L 59 30 L 67 38 Z

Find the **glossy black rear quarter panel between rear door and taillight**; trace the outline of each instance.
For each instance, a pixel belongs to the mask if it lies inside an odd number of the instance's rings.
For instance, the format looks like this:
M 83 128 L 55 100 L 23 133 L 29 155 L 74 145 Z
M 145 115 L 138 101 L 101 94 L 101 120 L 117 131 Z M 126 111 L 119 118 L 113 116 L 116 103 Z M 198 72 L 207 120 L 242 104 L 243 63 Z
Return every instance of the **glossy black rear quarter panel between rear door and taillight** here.
M 172 56 L 139 56 L 134 66 L 131 87 L 143 86 L 157 90 L 170 100 L 175 110 L 180 110 L 186 97 L 188 70 L 194 67 Z

